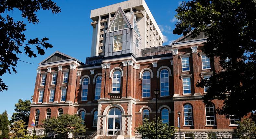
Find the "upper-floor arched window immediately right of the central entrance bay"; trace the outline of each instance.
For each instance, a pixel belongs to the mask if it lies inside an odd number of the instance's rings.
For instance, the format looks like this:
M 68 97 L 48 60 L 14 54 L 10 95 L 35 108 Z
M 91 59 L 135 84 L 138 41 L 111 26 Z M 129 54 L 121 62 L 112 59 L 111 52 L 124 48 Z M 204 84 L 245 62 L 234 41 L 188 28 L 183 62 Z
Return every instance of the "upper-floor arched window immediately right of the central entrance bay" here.
M 150 72 L 142 74 L 142 97 L 150 97 Z

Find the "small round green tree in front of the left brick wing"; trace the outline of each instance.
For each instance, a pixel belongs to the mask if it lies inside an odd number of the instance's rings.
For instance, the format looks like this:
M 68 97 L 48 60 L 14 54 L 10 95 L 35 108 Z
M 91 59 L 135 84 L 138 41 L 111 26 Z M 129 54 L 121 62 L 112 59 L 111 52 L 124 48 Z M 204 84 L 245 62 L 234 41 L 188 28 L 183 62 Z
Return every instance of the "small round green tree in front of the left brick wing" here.
M 62 114 L 56 118 L 43 120 L 42 127 L 46 133 L 60 134 L 63 139 L 68 139 L 70 133 L 85 133 L 84 121 L 77 115 Z

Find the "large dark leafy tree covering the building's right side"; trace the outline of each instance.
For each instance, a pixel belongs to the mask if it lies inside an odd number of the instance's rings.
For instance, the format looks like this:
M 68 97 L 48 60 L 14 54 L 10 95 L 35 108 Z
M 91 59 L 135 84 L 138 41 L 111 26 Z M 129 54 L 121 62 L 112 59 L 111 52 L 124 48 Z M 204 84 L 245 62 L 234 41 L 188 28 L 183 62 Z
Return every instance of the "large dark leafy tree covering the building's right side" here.
M 226 117 L 256 110 L 256 105 L 248 105 L 256 100 L 255 7 L 255 0 L 190 0 L 176 9 L 179 21 L 173 33 L 196 37 L 204 32 L 204 53 L 211 60 L 219 57 L 223 70 L 199 81 L 197 87 L 209 86 L 204 103 L 215 96 L 224 100 L 217 113 Z

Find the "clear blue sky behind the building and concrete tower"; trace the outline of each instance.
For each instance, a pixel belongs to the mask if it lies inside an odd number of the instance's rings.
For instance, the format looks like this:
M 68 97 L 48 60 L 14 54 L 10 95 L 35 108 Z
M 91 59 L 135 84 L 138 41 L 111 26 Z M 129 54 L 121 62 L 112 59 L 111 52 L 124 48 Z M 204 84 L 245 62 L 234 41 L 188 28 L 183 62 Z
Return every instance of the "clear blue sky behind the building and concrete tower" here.
M 99 2 L 100 1 L 100 2 Z M 17 74 L 4 74 L 4 82 L 8 86 L 8 91 L 0 92 L 0 113 L 5 110 L 9 119 L 15 109 L 15 103 L 18 99 L 29 100 L 34 93 L 36 69 L 38 63 L 51 55 L 55 51 L 60 51 L 69 56 L 75 57 L 85 62 L 86 57 L 90 57 L 92 29 L 90 25 L 90 10 L 103 6 L 122 2 L 124 0 L 56 0 L 58 6 L 61 7 L 61 13 L 52 14 L 51 11 L 40 10 L 37 16 L 40 20 L 39 24 L 33 25 L 28 23 L 26 19 L 22 19 L 20 12 L 13 10 L 8 12 L 14 20 L 22 20 L 27 23 L 27 30 L 24 32 L 26 38 L 42 38 L 48 37 L 49 43 L 53 48 L 46 50 L 45 55 L 38 55 L 37 58 L 29 58 L 25 54 L 19 56 L 20 60 L 33 63 L 27 64 L 18 62 Z M 172 34 L 176 23 L 175 9 L 181 3 L 180 0 L 145 0 L 152 15 L 154 16 L 159 28 L 161 29 L 165 43 L 168 45 L 171 41 L 180 36 Z M 22 49 L 22 48 L 21 48 Z M 33 48 L 33 50 L 36 50 Z

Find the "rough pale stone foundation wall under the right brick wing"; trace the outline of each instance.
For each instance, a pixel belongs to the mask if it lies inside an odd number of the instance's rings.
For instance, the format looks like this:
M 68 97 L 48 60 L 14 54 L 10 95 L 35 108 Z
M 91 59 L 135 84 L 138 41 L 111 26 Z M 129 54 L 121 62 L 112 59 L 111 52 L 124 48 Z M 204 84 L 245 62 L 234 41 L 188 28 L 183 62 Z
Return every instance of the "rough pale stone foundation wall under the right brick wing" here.
M 232 133 L 229 131 L 221 131 L 221 132 L 176 132 L 174 134 L 175 139 L 179 139 L 180 136 L 182 139 L 185 138 L 185 134 L 193 134 L 194 139 L 207 139 L 207 134 L 208 133 L 215 133 L 216 134 L 216 139 L 232 139 Z

